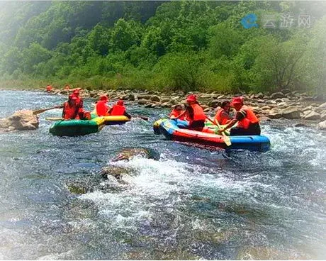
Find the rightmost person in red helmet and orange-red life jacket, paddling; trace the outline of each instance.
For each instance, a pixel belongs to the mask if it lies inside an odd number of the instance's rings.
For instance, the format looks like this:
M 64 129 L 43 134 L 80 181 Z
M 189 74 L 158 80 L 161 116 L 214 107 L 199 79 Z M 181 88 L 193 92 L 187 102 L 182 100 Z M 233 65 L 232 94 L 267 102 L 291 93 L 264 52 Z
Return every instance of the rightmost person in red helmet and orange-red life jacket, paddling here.
M 230 135 L 260 135 L 261 130 L 259 126 L 259 120 L 252 109 L 243 104 L 243 98 L 233 98 L 231 106 L 233 106 L 237 111 L 235 118 L 230 121 L 230 123 L 228 123 L 225 128 L 219 130 L 219 133 L 223 133 L 223 131 L 227 130 L 228 128 L 235 125 L 235 123 L 237 123 L 236 128 L 231 128 Z

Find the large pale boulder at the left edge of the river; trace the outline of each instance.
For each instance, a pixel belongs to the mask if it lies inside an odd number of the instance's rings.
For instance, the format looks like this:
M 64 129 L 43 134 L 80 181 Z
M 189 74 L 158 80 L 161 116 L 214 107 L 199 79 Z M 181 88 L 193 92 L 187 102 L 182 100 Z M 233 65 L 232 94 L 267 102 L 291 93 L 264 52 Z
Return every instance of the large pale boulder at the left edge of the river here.
M 3 131 L 10 130 L 35 130 L 38 128 L 38 116 L 30 110 L 16 111 L 8 118 L 0 120 L 0 129 Z

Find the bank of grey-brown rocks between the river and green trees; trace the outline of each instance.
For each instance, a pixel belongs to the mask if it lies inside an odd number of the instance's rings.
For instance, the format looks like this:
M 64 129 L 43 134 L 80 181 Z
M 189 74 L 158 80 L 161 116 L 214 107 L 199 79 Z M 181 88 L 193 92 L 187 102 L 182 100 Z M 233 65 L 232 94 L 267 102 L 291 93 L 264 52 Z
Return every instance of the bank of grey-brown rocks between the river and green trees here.
M 52 89 L 51 94 L 67 95 L 71 90 Z M 224 100 L 231 100 L 232 94 L 211 93 L 197 94 L 198 101 L 204 111 L 213 113 L 217 106 Z M 145 106 L 145 108 L 170 108 L 176 104 L 183 104 L 186 96 L 183 91 L 172 93 L 161 93 L 159 91 L 132 91 L 125 90 L 83 90 L 81 96 L 84 98 L 98 99 L 99 96 L 107 94 L 111 100 L 123 99 L 132 103 Z M 296 119 L 300 120 L 300 126 L 315 125 L 322 130 L 326 129 L 326 97 L 311 96 L 298 91 L 275 92 L 270 95 L 262 94 L 238 94 L 245 98 L 245 104 L 254 109 L 254 112 L 262 121 L 272 119 Z

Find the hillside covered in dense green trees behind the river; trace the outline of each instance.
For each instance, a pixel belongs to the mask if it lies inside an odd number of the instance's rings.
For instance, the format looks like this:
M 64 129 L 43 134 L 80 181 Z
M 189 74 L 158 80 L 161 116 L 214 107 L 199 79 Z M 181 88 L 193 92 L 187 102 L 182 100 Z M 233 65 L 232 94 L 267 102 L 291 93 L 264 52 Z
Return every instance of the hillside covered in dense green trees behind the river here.
M 322 1 L 8 1 L 0 7 L 1 82 L 325 91 Z M 245 28 L 249 13 L 257 26 Z M 301 14 L 311 26 L 300 26 Z M 266 27 L 267 15 L 275 28 Z

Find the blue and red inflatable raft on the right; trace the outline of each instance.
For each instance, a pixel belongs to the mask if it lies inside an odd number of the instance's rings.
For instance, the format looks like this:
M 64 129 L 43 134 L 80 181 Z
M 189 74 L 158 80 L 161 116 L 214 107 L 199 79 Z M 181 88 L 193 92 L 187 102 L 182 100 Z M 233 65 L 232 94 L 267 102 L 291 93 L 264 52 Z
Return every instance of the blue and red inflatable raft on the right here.
M 154 133 L 162 133 L 169 140 L 190 141 L 203 145 L 227 148 L 231 150 L 246 149 L 266 152 L 270 148 L 269 138 L 263 135 L 230 136 L 231 145 L 227 147 L 223 135 L 180 128 L 178 121 L 162 119 L 154 123 Z

